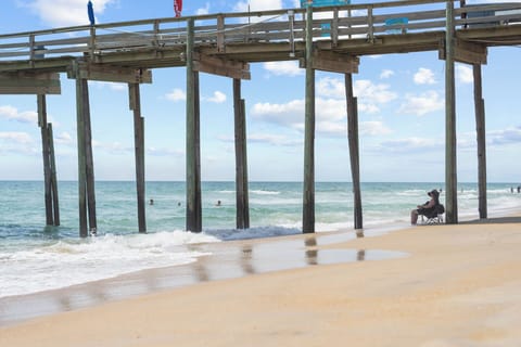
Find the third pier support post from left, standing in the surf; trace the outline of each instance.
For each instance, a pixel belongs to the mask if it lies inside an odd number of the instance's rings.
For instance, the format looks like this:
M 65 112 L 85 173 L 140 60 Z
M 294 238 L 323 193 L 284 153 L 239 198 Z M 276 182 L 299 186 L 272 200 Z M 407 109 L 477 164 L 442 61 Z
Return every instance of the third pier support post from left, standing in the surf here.
M 138 198 L 138 228 L 147 232 L 144 185 L 144 118 L 141 116 L 139 83 L 128 83 L 129 106 L 134 111 L 134 146 L 136 156 L 136 192 Z

